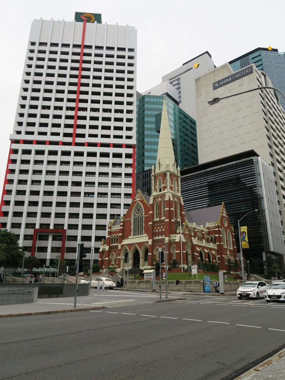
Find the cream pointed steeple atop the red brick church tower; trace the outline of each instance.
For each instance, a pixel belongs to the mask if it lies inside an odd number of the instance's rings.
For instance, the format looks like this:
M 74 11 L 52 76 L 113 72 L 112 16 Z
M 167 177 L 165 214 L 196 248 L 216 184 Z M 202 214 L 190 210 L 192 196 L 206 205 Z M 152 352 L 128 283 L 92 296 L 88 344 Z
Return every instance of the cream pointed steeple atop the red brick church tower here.
M 166 110 L 165 97 L 163 98 L 163 107 L 161 112 L 160 135 L 157 149 L 157 161 L 155 173 L 170 170 L 177 173 L 176 162 L 174 158 L 168 115 Z

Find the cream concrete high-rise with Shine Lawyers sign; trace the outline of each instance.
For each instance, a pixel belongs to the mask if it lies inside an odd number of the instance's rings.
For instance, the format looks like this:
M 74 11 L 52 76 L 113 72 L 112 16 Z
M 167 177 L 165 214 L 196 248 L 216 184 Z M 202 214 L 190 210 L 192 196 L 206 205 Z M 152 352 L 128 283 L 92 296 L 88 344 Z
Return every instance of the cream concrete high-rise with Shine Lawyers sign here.
M 271 81 L 254 64 L 234 72 L 226 63 L 196 79 L 199 163 L 255 150 L 272 168 L 283 239 L 285 113 Z M 210 98 L 233 96 L 210 106 Z

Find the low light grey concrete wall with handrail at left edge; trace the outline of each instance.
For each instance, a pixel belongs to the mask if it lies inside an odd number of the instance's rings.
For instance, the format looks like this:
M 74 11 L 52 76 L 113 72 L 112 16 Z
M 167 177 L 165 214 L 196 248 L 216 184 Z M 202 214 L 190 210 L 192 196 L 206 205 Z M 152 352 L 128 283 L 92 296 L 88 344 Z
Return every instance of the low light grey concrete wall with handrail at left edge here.
M 38 299 L 38 287 L 0 286 L 0 305 L 27 304 Z

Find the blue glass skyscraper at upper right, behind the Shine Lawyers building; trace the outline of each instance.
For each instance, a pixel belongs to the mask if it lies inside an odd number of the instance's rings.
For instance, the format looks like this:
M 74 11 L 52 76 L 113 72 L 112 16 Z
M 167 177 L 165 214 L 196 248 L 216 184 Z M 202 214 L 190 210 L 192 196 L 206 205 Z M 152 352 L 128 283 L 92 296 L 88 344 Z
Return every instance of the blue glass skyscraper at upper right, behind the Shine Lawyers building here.
M 269 47 L 257 47 L 256 49 L 237 57 L 229 62 L 234 71 L 254 63 L 258 70 L 264 71 L 272 82 L 272 86 L 285 94 L 285 53 Z M 277 93 L 280 105 L 285 109 L 285 101 Z

